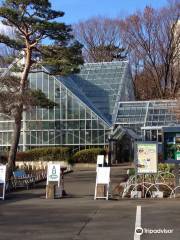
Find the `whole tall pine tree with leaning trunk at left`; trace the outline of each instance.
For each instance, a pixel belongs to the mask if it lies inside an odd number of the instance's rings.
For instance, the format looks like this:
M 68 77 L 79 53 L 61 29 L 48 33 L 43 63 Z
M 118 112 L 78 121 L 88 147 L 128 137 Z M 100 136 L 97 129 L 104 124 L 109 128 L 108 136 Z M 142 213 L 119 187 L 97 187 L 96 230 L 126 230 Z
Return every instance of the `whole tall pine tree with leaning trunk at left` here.
M 83 63 L 82 46 L 74 40 L 71 26 L 59 22 L 63 16 L 62 11 L 52 9 L 48 0 L 5 0 L 0 6 L 2 23 L 15 30 L 15 37 L 0 34 L 0 43 L 14 49 L 19 58 L 24 59 L 21 67 L 18 65 L 20 77 L 16 79 L 17 99 L 8 114 L 14 119 L 13 139 L 7 165 L 8 177 L 11 176 L 15 165 L 30 71 L 37 67 L 37 64 L 46 64 L 51 67 L 53 73 L 68 74 L 76 72 L 78 65 Z M 38 62 L 35 55 L 38 55 Z M 9 83 L 16 82 L 12 75 L 8 76 L 8 79 Z M 34 95 L 37 97 L 37 93 Z M 42 98 L 40 93 L 38 95 Z

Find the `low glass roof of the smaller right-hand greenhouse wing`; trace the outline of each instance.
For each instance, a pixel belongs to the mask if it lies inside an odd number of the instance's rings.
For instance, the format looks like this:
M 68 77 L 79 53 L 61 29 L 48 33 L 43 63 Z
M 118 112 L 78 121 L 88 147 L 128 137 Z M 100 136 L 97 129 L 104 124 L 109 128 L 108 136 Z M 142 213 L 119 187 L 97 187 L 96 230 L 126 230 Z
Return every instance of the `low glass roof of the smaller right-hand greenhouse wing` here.
M 119 102 L 115 124 L 136 132 L 143 127 L 177 125 L 175 108 L 173 100 Z

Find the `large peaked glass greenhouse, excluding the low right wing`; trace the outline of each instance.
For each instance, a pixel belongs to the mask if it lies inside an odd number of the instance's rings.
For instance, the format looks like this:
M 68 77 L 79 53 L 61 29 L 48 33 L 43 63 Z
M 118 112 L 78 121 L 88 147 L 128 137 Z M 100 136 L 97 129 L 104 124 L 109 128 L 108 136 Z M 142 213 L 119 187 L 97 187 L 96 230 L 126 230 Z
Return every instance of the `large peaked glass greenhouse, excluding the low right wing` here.
M 127 61 L 87 63 L 78 74 L 67 77 L 52 76 L 42 67 L 30 74 L 29 83 L 58 105 L 24 112 L 21 150 L 58 145 L 105 147 L 119 101 L 134 100 Z M 13 122 L 3 114 L 0 118 L 0 146 L 6 149 L 11 144 Z

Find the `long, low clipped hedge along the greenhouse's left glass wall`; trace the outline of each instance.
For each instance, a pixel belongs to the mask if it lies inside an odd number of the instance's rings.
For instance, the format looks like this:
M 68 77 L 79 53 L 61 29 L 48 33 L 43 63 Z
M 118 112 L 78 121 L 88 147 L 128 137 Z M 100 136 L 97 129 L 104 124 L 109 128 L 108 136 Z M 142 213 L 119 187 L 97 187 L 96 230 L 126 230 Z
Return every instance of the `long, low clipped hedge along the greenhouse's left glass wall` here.
M 70 150 L 67 147 L 34 148 L 18 152 L 16 161 L 68 161 Z

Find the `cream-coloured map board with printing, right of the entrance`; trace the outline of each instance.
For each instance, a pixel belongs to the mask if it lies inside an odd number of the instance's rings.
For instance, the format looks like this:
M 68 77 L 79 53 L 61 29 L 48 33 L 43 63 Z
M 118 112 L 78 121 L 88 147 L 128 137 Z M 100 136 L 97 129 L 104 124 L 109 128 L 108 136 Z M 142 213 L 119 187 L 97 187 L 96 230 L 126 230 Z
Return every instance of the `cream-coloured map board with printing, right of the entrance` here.
M 157 173 L 158 145 L 152 142 L 138 142 L 136 145 L 137 173 Z

